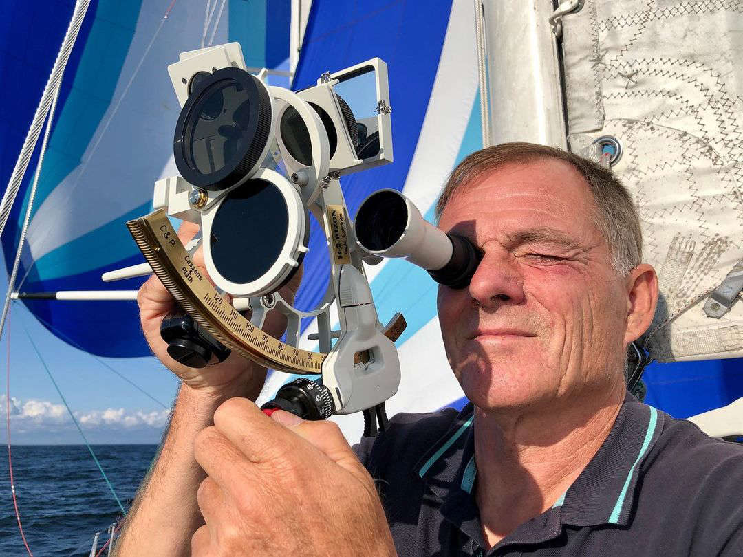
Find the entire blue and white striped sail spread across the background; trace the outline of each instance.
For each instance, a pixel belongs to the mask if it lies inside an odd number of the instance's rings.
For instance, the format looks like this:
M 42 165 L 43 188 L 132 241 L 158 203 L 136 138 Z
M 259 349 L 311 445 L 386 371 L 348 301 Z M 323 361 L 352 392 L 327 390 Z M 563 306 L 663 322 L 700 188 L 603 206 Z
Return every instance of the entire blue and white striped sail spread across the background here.
M 60 0 L 45 10 L 33 2 L 13 1 L 0 24 L 4 182 L 73 4 Z M 304 26 L 297 20 L 307 22 L 303 39 Z M 142 261 L 123 223 L 149 212 L 155 180 L 177 173 L 172 131 L 180 107 L 166 67 L 181 51 L 210 43 L 239 41 L 247 65 L 282 70 L 290 68 L 289 59 L 297 58 L 301 45 L 294 89 L 314 85 L 324 71 L 374 56 L 384 59 L 395 163 L 343 177 L 348 209 L 353 216 L 369 193 L 394 188 L 432 220 L 432 205 L 449 172 L 481 147 L 474 37 L 473 3 L 468 0 L 91 2 L 65 72 L 18 290 L 119 290 L 140 284 L 141 279 L 132 279 L 106 285 L 100 274 Z M 271 79 L 288 85 L 288 79 Z M 2 240 L 9 269 L 24 211 L 25 203 L 16 203 Z M 302 308 L 319 301 L 328 278 L 325 239 L 316 226 L 310 248 L 305 277 L 311 279 L 298 296 Z M 404 261 L 384 261 L 368 271 L 380 320 L 402 311 L 409 324 L 398 341 L 402 382 L 388 403 L 390 414 L 461 405 L 461 389 L 441 345 L 435 283 Z M 25 304 L 54 334 L 85 351 L 149 354 L 134 302 Z M 313 329 L 305 324 L 303 348 L 316 347 L 307 339 Z M 647 400 L 678 417 L 727 404 L 743 395 L 740 365 L 732 359 L 653 366 L 646 373 Z M 287 380 L 291 377 L 286 374 L 273 374 L 266 396 Z M 343 428 L 349 438 L 357 437 L 360 420 L 344 418 Z

